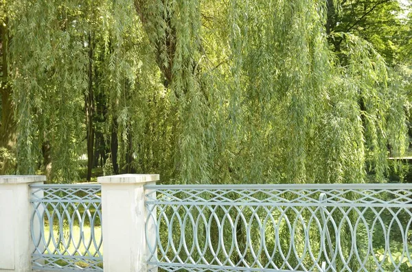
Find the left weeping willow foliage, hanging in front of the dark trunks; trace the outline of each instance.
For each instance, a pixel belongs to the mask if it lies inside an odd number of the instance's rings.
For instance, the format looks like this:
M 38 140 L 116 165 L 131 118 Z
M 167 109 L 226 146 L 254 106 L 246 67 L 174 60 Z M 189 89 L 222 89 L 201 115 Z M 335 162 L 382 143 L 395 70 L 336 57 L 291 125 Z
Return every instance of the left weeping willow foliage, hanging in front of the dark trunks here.
M 117 138 L 126 146 L 131 124 L 141 123 L 130 116 L 142 103 L 130 105 L 147 100 L 148 88 L 159 90 L 133 3 L 24 0 L 10 10 L 17 169 L 34 173 L 44 160 L 52 179 L 76 180 L 85 139 L 93 147 L 95 119 L 104 121 L 106 142 L 115 138 L 117 154 Z

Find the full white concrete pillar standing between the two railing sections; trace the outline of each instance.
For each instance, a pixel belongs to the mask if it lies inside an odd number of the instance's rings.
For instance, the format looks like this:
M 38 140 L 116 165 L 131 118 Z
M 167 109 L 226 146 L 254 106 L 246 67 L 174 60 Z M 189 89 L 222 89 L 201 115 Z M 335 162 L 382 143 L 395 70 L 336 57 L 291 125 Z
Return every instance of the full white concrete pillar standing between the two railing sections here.
M 144 184 L 155 184 L 158 180 L 159 175 L 98 177 L 102 184 L 104 272 L 148 271 Z M 155 238 L 154 228 L 150 228 L 148 236 Z

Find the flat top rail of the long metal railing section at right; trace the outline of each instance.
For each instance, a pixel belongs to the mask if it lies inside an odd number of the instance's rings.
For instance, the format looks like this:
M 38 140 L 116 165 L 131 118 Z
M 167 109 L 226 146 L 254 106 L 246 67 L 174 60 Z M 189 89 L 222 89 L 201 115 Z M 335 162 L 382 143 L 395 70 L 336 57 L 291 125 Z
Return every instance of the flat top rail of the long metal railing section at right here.
M 147 190 L 412 190 L 412 184 L 177 184 L 145 185 Z

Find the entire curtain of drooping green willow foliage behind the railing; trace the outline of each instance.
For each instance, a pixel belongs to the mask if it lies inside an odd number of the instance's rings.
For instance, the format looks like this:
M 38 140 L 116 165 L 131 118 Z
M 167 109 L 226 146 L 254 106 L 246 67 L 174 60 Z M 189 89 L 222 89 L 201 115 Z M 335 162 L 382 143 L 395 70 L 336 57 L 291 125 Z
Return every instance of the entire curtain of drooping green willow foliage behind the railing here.
M 99 141 L 115 173 L 179 183 L 381 181 L 406 98 L 368 42 L 326 32 L 328 7 L 10 1 L 18 172 L 76 180 Z

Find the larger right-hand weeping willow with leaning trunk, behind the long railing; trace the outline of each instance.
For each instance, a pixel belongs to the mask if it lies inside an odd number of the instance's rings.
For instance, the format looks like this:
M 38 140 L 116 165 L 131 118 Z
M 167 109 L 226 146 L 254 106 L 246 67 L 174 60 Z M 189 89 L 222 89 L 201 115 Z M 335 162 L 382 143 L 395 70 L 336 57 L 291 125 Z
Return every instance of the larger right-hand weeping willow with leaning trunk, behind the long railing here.
M 326 34 L 324 1 L 136 9 L 171 90 L 179 180 L 362 182 L 367 171 L 381 180 L 387 147 L 404 149 L 402 90 L 368 42 Z M 339 56 L 328 45 L 337 36 Z

